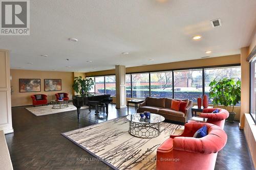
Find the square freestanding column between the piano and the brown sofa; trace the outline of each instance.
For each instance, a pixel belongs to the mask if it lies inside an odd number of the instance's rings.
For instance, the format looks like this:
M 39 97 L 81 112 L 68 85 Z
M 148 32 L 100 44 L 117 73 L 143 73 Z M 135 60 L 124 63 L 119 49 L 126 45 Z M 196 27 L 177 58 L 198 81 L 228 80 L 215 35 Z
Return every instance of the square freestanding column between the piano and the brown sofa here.
M 126 107 L 125 66 L 116 65 L 116 108 Z

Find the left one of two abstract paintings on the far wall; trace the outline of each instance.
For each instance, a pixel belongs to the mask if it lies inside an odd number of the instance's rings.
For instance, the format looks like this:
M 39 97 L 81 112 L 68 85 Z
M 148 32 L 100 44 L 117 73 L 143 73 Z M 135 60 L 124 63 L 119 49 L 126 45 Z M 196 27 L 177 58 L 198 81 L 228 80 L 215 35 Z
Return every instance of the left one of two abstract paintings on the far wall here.
M 40 79 L 19 79 L 19 92 L 41 91 Z

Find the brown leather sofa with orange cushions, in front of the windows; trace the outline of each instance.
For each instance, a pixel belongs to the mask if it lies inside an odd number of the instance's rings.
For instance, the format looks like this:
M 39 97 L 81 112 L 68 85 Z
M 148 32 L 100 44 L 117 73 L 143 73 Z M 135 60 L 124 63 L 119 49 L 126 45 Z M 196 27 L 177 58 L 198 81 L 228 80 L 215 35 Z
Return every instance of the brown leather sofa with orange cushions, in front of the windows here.
M 176 111 L 170 109 L 173 99 L 168 98 L 150 98 L 147 97 L 143 103 L 140 104 L 137 112 L 142 113 L 144 111 L 150 111 L 151 113 L 157 113 L 164 116 L 167 120 L 173 120 L 176 122 L 186 123 L 191 118 L 192 101 L 188 99 L 182 100 L 187 102 L 185 113 L 182 111 Z M 178 99 L 175 99 L 179 101 Z

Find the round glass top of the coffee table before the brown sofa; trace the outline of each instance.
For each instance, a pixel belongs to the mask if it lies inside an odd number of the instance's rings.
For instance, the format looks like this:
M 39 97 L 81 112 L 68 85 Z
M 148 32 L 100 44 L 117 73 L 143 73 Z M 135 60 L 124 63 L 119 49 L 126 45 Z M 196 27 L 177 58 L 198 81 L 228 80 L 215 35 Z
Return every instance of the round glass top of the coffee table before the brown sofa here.
M 126 116 L 126 118 L 130 122 L 135 122 L 140 124 L 157 124 L 157 123 L 163 122 L 165 119 L 163 116 L 155 113 L 151 113 L 150 118 L 146 118 L 145 116 L 141 117 L 140 113 L 129 114 Z

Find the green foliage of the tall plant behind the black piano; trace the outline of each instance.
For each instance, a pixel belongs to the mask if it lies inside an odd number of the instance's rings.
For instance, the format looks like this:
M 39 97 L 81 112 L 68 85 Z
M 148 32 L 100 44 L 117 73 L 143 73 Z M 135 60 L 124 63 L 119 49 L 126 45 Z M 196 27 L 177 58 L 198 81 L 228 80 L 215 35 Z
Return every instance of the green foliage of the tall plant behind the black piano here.
M 74 78 L 73 89 L 76 93 L 82 95 L 88 95 L 88 92 L 92 89 L 94 81 L 92 78 L 84 79 L 81 76 Z

